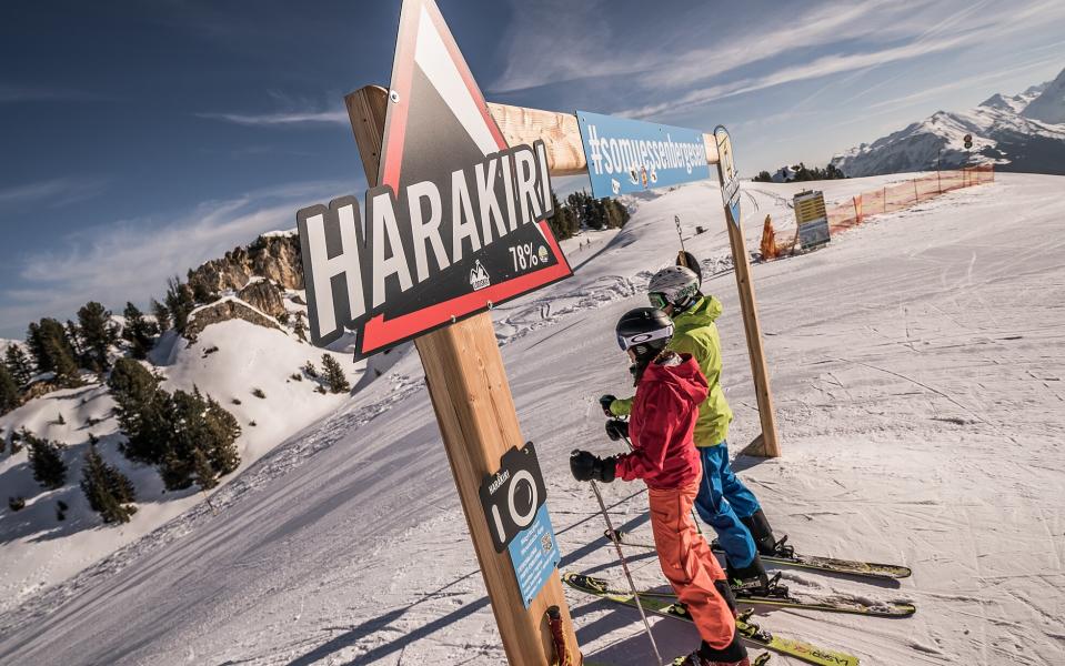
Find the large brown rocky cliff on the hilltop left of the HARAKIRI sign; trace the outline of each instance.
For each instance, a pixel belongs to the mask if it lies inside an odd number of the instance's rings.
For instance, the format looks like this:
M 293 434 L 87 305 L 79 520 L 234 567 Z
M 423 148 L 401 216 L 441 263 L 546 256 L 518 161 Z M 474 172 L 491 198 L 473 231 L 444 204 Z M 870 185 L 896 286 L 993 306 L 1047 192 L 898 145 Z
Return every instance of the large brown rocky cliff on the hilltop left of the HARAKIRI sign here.
M 240 292 L 254 278 L 265 278 L 283 289 L 303 289 L 303 260 L 295 232 L 269 233 L 247 248 L 234 248 L 189 272 L 189 284 L 207 293 Z

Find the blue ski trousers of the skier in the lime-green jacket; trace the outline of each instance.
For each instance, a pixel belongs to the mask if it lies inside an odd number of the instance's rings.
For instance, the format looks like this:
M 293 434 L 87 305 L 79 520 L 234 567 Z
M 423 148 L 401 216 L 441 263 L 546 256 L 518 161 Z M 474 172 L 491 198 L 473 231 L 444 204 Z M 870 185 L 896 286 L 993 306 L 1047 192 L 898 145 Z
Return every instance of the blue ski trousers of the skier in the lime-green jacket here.
M 757 548 L 746 526 L 740 522 L 758 511 L 758 500 L 732 471 L 729 443 L 697 448 L 703 463 L 703 480 L 695 497 L 695 511 L 717 533 L 717 543 L 725 549 L 729 563 L 750 566 Z

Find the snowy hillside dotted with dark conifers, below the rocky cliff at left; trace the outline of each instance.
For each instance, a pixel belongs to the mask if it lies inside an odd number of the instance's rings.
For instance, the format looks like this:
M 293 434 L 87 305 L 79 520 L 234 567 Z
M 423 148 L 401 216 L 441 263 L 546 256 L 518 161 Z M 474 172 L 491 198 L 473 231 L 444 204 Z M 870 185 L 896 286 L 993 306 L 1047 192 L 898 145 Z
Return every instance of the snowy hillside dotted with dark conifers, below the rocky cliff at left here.
M 346 395 L 315 392 L 319 384 L 300 371 L 308 361 L 321 369 L 322 353 L 280 330 L 234 320 L 207 327 L 195 343 L 170 332 L 153 356 L 159 362 L 154 370 L 165 379 L 163 389 L 198 386 L 237 416 L 243 431 L 238 446 L 244 470 L 343 404 Z M 345 353 L 329 353 L 349 371 L 354 385 L 362 376 L 361 365 L 352 366 Z M 265 397 L 253 395 L 254 389 Z M 33 481 L 26 450 L 11 455 L 9 444 L 0 455 L 0 610 L 81 572 L 203 498 L 194 487 L 165 492 L 153 467 L 134 465 L 119 453 L 122 435 L 113 407 L 107 387 L 94 383 L 49 393 L 0 416 L 0 436 L 10 437 L 26 427 L 61 442 L 67 445 L 63 457 L 69 465 L 63 488 L 42 491 Z M 90 434 L 100 438 L 104 458 L 137 487 L 138 512 L 127 525 L 103 526 L 78 486 Z M 8 497 L 24 497 L 26 508 L 11 511 Z M 60 502 L 69 507 L 61 522 L 57 519 Z

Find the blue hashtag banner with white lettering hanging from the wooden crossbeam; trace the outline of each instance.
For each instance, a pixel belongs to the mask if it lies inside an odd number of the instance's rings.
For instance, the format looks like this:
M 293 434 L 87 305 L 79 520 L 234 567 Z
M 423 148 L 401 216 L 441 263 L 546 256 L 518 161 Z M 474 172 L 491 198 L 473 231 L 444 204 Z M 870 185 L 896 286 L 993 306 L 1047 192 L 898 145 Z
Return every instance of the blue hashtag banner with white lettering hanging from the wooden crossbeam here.
M 710 178 L 703 132 L 576 112 L 596 199 Z

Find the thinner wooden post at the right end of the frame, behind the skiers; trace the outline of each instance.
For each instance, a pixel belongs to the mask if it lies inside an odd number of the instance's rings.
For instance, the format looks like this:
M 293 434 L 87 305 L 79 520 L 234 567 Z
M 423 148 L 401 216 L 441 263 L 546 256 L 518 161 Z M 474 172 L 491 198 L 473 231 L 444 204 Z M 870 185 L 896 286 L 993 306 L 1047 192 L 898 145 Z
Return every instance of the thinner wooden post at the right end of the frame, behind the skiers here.
M 717 180 L 725 185 L 725 174 L 717 164 Z M 758 322 L 758 306 L 754 299 L 754 283 L 751 282 L 751 262 L 740 220 L 732 219 L 732 211 L 725 208 L 725 226 L 729 228 L 729 243 L 732 245 L 732 261 L 736 272 L 736 287 L 740 290 L 740 309 L 743 313 L 743 332 L 747 340 L 747 356 L 751 361 L 751 375 L 754 377 L 754 395 L 758 402 L 758 418 L 762 421 L 762 434 L 744 448 L 747 455 L 780 457 L 781 444 L 776 436 L 776 416 L 773 413 L 773 394 L 770 390 L 770 373 L 765 365 L 765 352 L 762 349 L 762 324 Z

